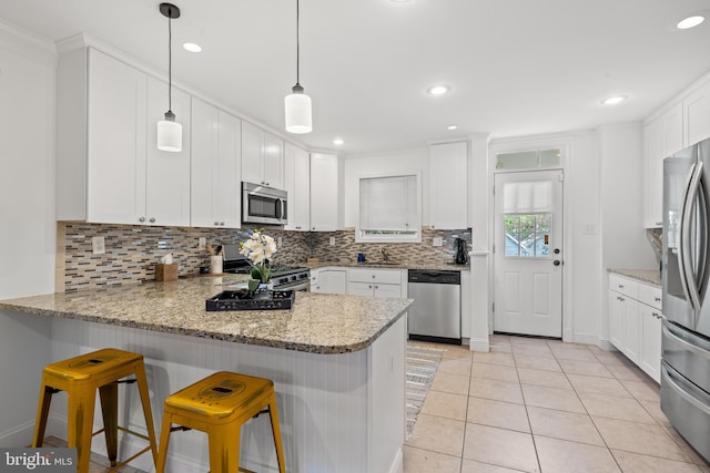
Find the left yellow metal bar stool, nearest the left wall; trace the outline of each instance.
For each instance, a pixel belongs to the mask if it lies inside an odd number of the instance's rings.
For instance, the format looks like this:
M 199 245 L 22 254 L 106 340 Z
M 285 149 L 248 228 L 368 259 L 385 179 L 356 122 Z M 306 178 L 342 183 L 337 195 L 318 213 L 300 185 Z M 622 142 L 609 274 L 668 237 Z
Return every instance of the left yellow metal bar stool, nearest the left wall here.
M 135 378 L 123 380 L 130 376 Z M 119 383 L 121 382 L 138 382 L 148 436 L 118 424 Z M 97 390 L 99 390 L 101 399 L 103 429 L 92 433 Z M 153 454 L 153 463 L 156 463 L 155 429 L 153 428 L 153 414 L 142 354 L 105 348 L 44 367 L 32 446 L 42 446 L 52 394 L 59 391 L 64 391 L 68 395 L 68 446 L 77 448 L 78 472 L 89 471 L 91 438 L 101 432 L 105 435 L 111 471 L 123 466 L 149 450 Z M 130 459 L 116 463 L 119 430 L 146 440 L 149 445 Z

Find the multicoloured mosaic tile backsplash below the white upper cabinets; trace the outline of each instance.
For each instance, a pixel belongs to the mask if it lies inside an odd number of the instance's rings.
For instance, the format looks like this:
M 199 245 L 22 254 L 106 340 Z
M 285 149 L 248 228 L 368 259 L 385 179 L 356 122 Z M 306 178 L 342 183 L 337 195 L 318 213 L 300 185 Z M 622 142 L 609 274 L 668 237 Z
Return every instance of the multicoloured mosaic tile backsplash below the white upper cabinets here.
M 62 223 L 58 238 L 64 240 L 64 291 L 152 280 L 155 264 L 169 253 L 178 263 L 181 276 L 197 274 L 201 267 L 210 265 L 209 253 L 197 249 L 200 237 L 216 247 L 243 241 L 252 230 Z M 424 229 L 420 244 L 361 244 L 355 243 L 354 230 L 304 233 L 267 228 L 266 234 L 276 240 L 281 238 L 274 263 L 285 265 L 303 264 L 308 257 L 349 264 L 357 260 L 358 253 L 366 254 L 368 260 L 378 261 L 381 248 L 403 265 L 436 265 L 453 260 L 456 236 L 467 240 L 470 247 L 470 230 Z M 93 254 L 94 236 L 104 237 L 105 254 Z M 331 237 L 335 238 L 335 245 L 329 244 Z M 435 237 L 443 238 L 443 246 L 433 246 Z M 58 250 L 58 256 L 61 255 Z

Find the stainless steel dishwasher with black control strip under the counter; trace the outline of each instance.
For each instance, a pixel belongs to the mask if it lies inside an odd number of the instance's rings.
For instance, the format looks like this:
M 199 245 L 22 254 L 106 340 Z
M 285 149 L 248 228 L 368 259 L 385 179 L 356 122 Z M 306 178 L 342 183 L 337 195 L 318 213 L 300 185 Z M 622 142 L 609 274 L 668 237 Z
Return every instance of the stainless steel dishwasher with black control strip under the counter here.
M 462 274 L 409 269 L 407 298 L 412 340 L 462 345 Z

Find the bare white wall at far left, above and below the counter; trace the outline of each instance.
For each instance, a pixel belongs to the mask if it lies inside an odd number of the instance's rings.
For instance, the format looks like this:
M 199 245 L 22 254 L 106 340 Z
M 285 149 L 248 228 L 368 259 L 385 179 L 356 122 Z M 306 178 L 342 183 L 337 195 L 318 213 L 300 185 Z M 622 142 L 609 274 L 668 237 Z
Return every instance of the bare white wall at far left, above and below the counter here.
M 0 23 L 0 299 L 54 291 L 54 84 L 53 45 Z M 31 440 L 50 327 L 0 311 L 0 446 Z

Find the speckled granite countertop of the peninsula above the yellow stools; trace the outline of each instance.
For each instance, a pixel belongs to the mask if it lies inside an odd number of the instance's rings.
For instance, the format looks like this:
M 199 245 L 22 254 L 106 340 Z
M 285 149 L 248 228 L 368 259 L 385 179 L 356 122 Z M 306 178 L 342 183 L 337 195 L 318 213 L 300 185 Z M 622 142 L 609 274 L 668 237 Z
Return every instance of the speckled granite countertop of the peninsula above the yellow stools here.
M 291 310 L 205 310 L 205 300 L 244 276 L 202 277 L 0 300 L 0 309 L 212 338 L 311 353 L 362 350 L 410 299 L 296 292 Z

